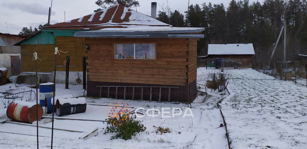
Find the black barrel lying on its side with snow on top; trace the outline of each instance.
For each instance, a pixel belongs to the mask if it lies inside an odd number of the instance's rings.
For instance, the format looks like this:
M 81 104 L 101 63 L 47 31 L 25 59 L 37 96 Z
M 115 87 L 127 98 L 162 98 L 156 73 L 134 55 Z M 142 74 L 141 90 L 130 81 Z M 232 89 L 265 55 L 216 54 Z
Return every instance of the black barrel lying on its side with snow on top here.
M 83 113 L 86 111 L 84 97 L 56 99 L 56 114 L 58 116 Z

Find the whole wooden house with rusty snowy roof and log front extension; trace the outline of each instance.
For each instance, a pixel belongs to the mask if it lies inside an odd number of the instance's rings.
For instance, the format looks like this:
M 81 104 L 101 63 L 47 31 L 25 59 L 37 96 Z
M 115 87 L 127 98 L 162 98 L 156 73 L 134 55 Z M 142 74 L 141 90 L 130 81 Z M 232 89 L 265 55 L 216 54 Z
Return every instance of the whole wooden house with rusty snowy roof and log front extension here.
M 37 52 L 44 61 L 39 71 L 52 72 L 54 47 L 68 51 L 58 55 L 57 63 L 63 63 L 66 55 L 86 56 L 89 96 L 192 102 L 197 95 L 197 41 L 204 38 L 203 31 L 173 27 L 155 16 L 116 5 L 44 27 L 17 45 L 22 51 L 22 71 L 34 71 L 29 55 Z M 80 62 L 70 60 L 73 65 Z

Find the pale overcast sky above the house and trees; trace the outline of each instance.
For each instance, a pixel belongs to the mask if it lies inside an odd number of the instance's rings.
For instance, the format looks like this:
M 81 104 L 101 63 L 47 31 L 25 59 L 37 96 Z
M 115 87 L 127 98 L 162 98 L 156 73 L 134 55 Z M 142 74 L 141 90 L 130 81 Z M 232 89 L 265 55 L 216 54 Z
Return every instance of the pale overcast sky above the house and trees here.
M 93 13 L 99 8 L 95 4 L 96 0 L 53 0 L 51 24 L 64 22 L 64 11 L 66 12 L 66 21 L 80 18 L 87 14 Z M 151 2 L 157 2 L 157 11 L 161 10 L 160 6 L 166 0 L 138 0 L 140 6 L 137 11 L 150 16 Z M 250 0 L 250 3 L 255 0 Z M 191 4 L 212 4 L 223 3 L 228 7 L 230 0 L 190 0 Z M 263 2 L 263 0 L 259 0 Z M 179 10 L 182 14 L 187 10 L 188 0 L 169 0 L 169 7 L 172 10 Z M 23 27 L 37 27 L 39 24 L 48 22 L 48 10 L 51 6 L 51 0 L 10 0 L 0 2 L 0 33 L 18 34 Z M 135 10 L 135 7 L 132 8 Z M 6 25 L 7 23 L 7 25 Z

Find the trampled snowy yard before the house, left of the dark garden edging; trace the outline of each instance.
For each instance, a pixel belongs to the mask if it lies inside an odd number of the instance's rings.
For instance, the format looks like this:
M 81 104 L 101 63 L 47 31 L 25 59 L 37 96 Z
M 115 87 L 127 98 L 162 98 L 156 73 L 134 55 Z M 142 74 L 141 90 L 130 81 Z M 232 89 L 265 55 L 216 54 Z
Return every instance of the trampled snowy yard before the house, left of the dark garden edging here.
M 11 87 L 11 88 L 10 88 Z M 56 84 L 56 95 L 72 94 L 74 97 L 83 95 L 84 90 L 82 85 L 70 85 L 70 89 L 64 89 L 64 84 Z M 24 87 L 26 90 L 29 88 Z M 0 91 L 5 92 L 8 89 L 17 89 L 13 84 L 7 84 L 0 86 Z M 23 90 L 18 88 L 12 92 Z M 35 91 L 35 89 L 32 89 Z M 0 93 L 1 94 L 1 93 Z M 0 95 L 1 96 L 1 95 Z M 201 98 L 201 97 L 200 97 Z M 32 95 L 34 99 L 34 94 Z M 123 101 L 129 104 L 134 109 L 142 107 L 145 110 L 150 108 L 159 109 L 166 108 L 181 108 L 182 114 L 185 109 L 190 107 L 189 104 L 183 103 L 157 103 L 147 101 L 129 101 L 129 100 L 115 100 L 115 99 L 91 99 L 87 98 L 88 104 L 103 104 L 107 105 L 115 101 Z M 34 100 L 30 102 L 35 102 Z M 219 109 L 207 110 L 208 105 L 205 103 L 193 103 L 192 113 L 194 117 L 185 117 L 182 115 L 176 115 L 174 118 L 162 118 L 156 116 L 154 118 L 145 116 L 138 118 L 142 121 L 147 128 L 145 132 L 138 134 L 131 140 L 110 140 L 112 134 L 104 135 L 102 132 L 96 137 L 90 137 L 87 139 L 79 139 L 79 137 L 85 132 L 90 132 L 96 127 L 104 128 L 105 124 L 102 122 L 92 121 L 79 121 L 79 120 L 58 120 L 54 121 L 54 128 L 77 130 L 81 132 L 67 132 L 67 131 L 54 131 L 54 148 L 225 148 L 227 147 L 227 139 L 225 138 L 225 128 L 220 127 L 220 123 L 223 123 L 223 119 L 220 115 Z M 108 107 L 87 105 L 87 111 L 85 113 L 66 115 L 63 117 L 68 118 L 81 118 L 81 119 L 96 119 L 104 120 L 107 118 Z M 169 110 L 172 112 L 171 110 Z M 7 120 L 6 108 L 0 107 L 0 121 Z M 189 114 L 189 112 L 188 112 Z M 170 115 L 170 114 L 169 114 Z M 45 115 L 51 116 L 51 114 Z M 170 115 L 171 116 L 171 115 Z M 44 119 L 39 121 L 39 126 L 51 127 L 51 123 L 43 123 Z M 36 125 L 36 122 L 33 122 Z M 156 134 L 153 126 L 169 127 L 172 133 Z M 36 127 L 23 126 L 17 124 L 4 123 L 0 124 L 0 131 L 22 133 L 28 135 L 17 135 L 10 133 L 0 132 L 0 148 L 34 148 L 36 147 Z M 40 148 L 50 148 L 51 145 L 51 130 L 46 128 L 39 128 Z M 49 136 L 49 137 L 48 137 Z

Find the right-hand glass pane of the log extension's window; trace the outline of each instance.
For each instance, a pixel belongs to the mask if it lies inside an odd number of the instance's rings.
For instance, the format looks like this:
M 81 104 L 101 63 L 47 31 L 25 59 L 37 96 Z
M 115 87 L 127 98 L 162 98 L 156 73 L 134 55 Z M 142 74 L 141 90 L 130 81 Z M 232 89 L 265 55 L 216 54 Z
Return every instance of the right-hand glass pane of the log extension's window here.
M 154 43 L 135 44 L 135 58 L 156 59 L 156 44 Z

